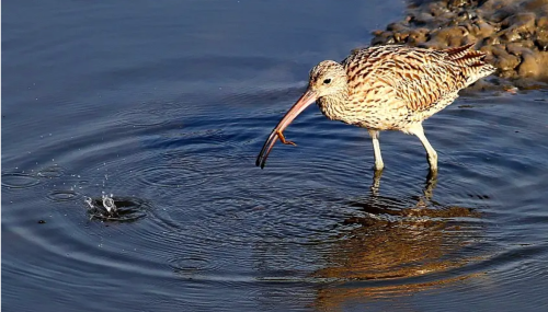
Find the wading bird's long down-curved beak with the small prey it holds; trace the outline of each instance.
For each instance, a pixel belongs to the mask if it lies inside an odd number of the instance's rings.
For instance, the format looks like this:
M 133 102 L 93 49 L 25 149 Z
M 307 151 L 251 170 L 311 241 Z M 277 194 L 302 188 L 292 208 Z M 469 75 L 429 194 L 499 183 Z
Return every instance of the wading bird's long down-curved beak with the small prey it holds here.
M 306 107 L 310 106 L 313 102 L 316 102 L 317 95 L 316 92 L 313 92 L 310 88 L 307 89 L 305 94 L 300 96 L 300 99 L 293 105 L 293 107 L 285 114 L 284 118 L 279 120 L 277 126 L 272 130 L 271 135 L 269 136 L 269 139 L 264 142 L 263 149 L 259 153 L 259 157 L 256 158 L 255 165 L 261 166 L 261 169 L 264 167 L 264 164 L 266 163 L 266 159 L 269 158 L 269 154 L 276 143 L 278 139 L 282 139 L 284 143 L 289 143 L 289 145 L 295 145 L 293 142 L 286 141 L 284 136 L 282 135 L 285 128 L 289 126 L 289 124 L 295 119 L 302 111 L 305 111 Z

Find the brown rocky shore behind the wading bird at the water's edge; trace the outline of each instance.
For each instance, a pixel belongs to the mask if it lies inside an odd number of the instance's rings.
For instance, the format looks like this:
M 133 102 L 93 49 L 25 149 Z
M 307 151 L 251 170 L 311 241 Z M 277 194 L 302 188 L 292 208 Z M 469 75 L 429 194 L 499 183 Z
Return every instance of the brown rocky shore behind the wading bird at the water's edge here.
M 416 0 L 403 21 L 375 31 L 372 45 L 447 48 L 476 43 L 498 76 L 548 81 L 548 0 Z

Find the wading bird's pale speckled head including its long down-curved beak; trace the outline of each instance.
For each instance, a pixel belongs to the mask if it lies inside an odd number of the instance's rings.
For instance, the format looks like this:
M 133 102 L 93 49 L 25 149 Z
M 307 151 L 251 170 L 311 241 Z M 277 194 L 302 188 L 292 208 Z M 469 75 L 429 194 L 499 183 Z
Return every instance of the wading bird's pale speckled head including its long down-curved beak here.
M 344 67 L 334 60 L 324 60 L 310 70 L 310 80 L 307 91 L 285 114 L 277 126 L 272 130 L 269 139 L 264 142 L 263 149 L 256 158 L 256 165 L 264 166 L 274 143 L 281 138 L 281 134 L 289 126 L 305 108 L 322 97 L 340 96 L 347 88 L 346 72 Z

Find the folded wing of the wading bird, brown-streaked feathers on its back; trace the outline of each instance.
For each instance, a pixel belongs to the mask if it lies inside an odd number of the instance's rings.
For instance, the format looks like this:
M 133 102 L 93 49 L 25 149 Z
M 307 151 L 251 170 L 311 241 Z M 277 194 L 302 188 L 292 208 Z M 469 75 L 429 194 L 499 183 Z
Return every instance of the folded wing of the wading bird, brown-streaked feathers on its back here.
M 455 50 L 454 55 L 463 51 Z M 447 51 L 379 46 L 354 53 L 343 65 L 351 90 L 389 90 L 387 94 L 398 100 L 392 103 L 400 102 L 414 112 L 435 106 L 466 82 L 461 68 L 448 59 Z

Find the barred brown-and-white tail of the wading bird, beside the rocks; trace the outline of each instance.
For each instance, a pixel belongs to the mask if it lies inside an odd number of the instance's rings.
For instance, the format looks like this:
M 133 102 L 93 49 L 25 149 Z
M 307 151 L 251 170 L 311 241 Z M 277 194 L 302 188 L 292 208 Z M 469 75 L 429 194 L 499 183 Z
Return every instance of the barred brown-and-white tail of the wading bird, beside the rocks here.
M 496 68 L 486 62 L 486 54 L 470 49 L 475 44 L 444 50 L 447 59 L 457 63 L 466 76 L 466 85 L 470 85 L 478 79 L 493 73 Z

